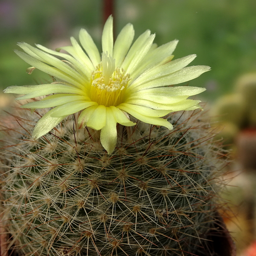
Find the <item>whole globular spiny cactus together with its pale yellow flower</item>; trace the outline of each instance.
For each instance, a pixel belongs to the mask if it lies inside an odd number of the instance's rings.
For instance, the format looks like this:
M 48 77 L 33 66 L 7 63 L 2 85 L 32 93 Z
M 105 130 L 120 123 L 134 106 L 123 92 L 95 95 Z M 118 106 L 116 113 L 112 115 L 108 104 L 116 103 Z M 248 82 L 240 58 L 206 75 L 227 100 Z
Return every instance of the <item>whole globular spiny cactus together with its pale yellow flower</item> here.
M 81 46 L 75 38 L 57 51 L 18 44 L 28 73 L 38 68 L 54 77 L 4 90 L 19 99 L 46 96 L 13 114 L 16 126 L 3 127 L 1 219 L 9 247 L 22 256 L 209 249 L 223 166 L 212 129 L 199 120 L 200 101 L 188 99 L 205 89 L 170 86 L 209 67 L 187 67 L 196 55 L 172 61 L 177 40 L 157 47 L 154 37 L 146 30 L 132 43 L 127 24 L 114 42 L 110 16 L 102 53 L 84 29 Z M 193 112 L 172 113 L 183 110 Z

